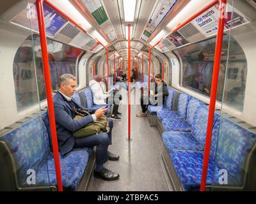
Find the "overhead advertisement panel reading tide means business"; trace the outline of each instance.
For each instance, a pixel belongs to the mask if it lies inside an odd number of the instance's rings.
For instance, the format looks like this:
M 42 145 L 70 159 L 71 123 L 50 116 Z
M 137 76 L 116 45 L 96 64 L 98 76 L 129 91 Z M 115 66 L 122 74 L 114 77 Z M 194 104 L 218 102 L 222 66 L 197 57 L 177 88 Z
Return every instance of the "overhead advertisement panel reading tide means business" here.
M 202 33 L 204 33 L 207 37 L 216 34 L 218 31 L 219 6 L 219 3 L 215 6 L 212 6 L 211 9 L 205 11 L 192 21 L 192 23 L 198 27 L 198 29 L 200 29 L 200 31 L 202 31 Z M 230 4 L 227 4 L 226 11 L 225 31 L 230 29 L 231 24 L 232 6 Z M 243 15 L 243 13 L 236 10 L 235 8 L 233 13 L 232 27 L 236 27 L 247 22 L 249 22 L 249 20 Z

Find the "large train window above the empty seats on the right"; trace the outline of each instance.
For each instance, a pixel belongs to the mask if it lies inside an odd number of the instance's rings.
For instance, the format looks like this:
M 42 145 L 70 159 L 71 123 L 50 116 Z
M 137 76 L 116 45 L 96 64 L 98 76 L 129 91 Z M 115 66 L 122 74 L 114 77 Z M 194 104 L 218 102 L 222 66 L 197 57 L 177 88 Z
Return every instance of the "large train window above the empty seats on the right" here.
M 212 38 L 177 50 L 182 59 L 180 85 L 205 96 L 210 96 L 215 45 L 216 38 Z M 230 49 L 232 49 L 230 50 L 232 55 L 229 55 L 227 66 L 228 35 L 225 35 L 221 53 L 217 100 L 222 101 L 225 84 L 228 89 L 225 89 L 223 103 L 242 112 L 247 61 L 243 49 L 232 36 L 230 36 Z M 225 77 L 226 66 L 227 77 Z

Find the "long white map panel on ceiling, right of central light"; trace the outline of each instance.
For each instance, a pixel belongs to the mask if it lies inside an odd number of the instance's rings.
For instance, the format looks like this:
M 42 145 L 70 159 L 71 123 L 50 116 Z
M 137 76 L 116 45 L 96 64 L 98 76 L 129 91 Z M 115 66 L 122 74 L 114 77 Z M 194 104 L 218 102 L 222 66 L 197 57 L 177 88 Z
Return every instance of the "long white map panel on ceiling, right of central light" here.
M 148 38 L 150 38 L 150 35 L 154 31 L 156 31 L 158 25 L 161 24 L 161 22 L 168 15 L 168 13 L 170 13 L 170 11 L 177 2 L 178 0 L 159 0 L 154 10 L 154 13 L 150 17 L 150 20 L 148 21 L 147 27 L 143 35 L 141 36 L 141 40 L 147 41 Z

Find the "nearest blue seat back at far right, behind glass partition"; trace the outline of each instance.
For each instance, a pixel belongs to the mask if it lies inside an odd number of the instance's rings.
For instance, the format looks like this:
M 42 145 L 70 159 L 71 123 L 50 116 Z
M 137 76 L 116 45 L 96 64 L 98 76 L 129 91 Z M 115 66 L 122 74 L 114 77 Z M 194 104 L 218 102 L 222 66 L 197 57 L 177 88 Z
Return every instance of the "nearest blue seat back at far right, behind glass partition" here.
M 216 150 L 214 186 L 220 185 L 218 184 L 220 170 L 227 170 L 228 186 L 243 186 L 246 175 L 246 159 L 255 142 L 255 133 L 225 117 L 221 118 Z

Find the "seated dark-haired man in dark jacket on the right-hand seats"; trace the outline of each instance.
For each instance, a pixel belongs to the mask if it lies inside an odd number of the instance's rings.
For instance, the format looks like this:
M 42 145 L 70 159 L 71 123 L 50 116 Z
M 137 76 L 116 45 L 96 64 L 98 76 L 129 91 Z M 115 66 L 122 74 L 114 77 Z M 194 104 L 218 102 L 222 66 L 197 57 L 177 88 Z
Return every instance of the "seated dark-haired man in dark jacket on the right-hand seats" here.
M 141 96 L 141 112 L 137 113 L 136 116 L 145 117 L 147 115 L 148 105 L 163 105 L 165 96 L 168 96 L 167 85 L 164 83 L 162 75 L 157 74 L 155 77 L 154 86 L 150 85 L 149 97 Z

